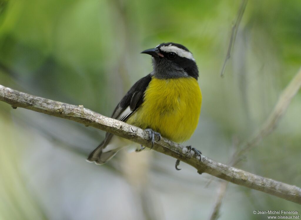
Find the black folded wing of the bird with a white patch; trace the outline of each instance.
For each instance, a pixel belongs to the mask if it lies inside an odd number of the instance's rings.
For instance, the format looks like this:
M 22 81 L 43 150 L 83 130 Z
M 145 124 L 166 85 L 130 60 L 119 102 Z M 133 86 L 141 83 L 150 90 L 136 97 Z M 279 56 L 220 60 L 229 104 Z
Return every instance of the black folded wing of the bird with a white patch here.
M 128 119 L 143 103 L 144 91 L 146 90 L 150 81 L 151 74 L 139 79 L 118 103 L 111 118 L 119 121 L 126 121 L 126 119 Z M 106 133 L 106 137 L 102 144 L 106 146 L 112 136 L 113 135 L 111 133 Z

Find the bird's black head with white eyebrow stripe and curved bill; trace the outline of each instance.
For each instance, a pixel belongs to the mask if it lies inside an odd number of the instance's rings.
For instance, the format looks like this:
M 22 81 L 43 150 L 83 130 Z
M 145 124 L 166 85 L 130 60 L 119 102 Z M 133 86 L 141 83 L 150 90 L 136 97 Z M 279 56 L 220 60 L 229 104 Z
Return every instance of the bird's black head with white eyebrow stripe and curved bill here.
M 152 75 L 156 78 L 194 77 L 197 79 L 199 76 L 192 53 L 181 44 L 162 43 L 141 53 L 152 56 L 154 67 Z

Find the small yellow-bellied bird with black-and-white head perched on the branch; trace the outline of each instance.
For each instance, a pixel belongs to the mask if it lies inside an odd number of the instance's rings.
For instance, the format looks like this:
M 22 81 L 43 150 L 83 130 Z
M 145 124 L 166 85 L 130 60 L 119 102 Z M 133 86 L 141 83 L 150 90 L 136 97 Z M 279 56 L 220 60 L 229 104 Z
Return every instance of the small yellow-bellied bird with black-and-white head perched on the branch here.
M 178 143 L 188 140 L 197 127 L 202 105 L 197 83 L 199 71 L 192 53 L 185 46 L 171 42 L 141 53 L 152 56 L 153 71 L 130 88 L 111 118 L 147 130 L 152 146 L 155 135 L 159 140 L 162 135 Z M 87 161 L 104 164 L 120 149 L 133 144 L 106 133 L 104 141 L 90 153 Z M 197 149 L 187 148 L 200 156 Z M 141 149 L 144 148 L 141 146 Z

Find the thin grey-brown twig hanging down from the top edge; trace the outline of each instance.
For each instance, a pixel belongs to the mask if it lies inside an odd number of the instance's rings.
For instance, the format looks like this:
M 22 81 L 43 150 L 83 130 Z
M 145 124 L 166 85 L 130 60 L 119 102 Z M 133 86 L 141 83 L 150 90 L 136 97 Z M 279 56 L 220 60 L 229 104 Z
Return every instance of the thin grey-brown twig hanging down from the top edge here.
M 228 46 L 228 50 L 227 50 L 227 55 L 225 57 L 225 61 L 224 61 L 224 64 L 222 66 L 221 77 L 224 76 L 224 72 L 225 72 L 225 68 L 226 68 L 226 63 L 227 63 L 227 61 L 231 57 L 231 50 L 232 50 L 232 48 L 234 46 L 235 39 L 236 39 L 236 36 L 237 36 L 238 27 L 239 27 L 241 18 L 244 15 L 244 11 L 246 9 L 247 2 L 248 2 L 248 0 L 242 0 L 241 1 L 240 7 L 239 7 L 239 10 L 238 10 L 238 13 L 237 13 L 237 18 L 236 18 L 235 24 L 232 26 L 230 42 L 229 42 L 229 46 Z

